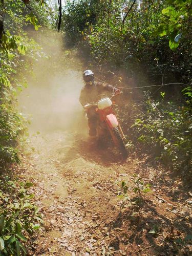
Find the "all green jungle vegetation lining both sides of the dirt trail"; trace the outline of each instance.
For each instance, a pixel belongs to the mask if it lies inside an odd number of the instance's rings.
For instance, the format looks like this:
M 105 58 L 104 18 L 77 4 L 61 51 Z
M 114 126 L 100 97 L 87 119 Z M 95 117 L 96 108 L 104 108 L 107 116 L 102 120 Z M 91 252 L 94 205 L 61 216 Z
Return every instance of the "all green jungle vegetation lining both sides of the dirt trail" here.
M 32 234 L 41 223 L 27 192 L 32 184 L 12 181 L 6 173 L 21 161 L 25 143 L 26 120 L 17 111 L 17 92 L 27 86 L 24 74 L 30 72 L 31 59 L 41 54 L 29 28 L 54 31 L 57 23 L 65 47 L 76 50 L 84 68 L 132 95 L 136 91 L 129 88 L 160 84 L 140 89 L 140 103 L 133 96 L 123 109 L 127 139 L 135 148 L 144 145 L 173 172 L 191 176 L 191 0 L 66 0 L 59 5 L 58 10 L 57 2 L 50 6 L 46 0 L 0 3 L 0 201 L 10 205 L 1 208 L 0 251 L 5 255 L 26 253 L 23 230 Z

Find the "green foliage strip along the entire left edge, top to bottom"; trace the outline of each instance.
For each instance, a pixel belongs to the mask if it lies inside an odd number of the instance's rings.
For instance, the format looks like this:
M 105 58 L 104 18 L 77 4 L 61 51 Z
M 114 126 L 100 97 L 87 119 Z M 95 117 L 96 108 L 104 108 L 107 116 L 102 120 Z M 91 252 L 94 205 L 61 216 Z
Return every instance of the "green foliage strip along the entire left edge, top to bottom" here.
M 42 56 L 40 47 L 25 30 L 41 27 L 37 17 L 42 25 L 44 20 L 48 26 L 51 23 L 49 7 L 41 8 L 42 2 L 0 2 L 0 255 L 27 254 L 28 239 L 42 223 L 33 203 L 34 195 L 29 191 L 32 183 L 12 178 L 12 166 L 20 162 L 26 131 L 26 120 L 18 113 L 16 97 L 27 86 L 25 75 L 32 71 L 32 59 Z

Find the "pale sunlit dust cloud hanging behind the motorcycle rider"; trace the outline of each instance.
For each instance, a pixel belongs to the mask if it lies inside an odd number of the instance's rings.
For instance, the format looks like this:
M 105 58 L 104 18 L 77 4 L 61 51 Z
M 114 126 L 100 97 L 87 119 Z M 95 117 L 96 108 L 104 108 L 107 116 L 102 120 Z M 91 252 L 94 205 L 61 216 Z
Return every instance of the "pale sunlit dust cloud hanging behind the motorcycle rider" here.
M 42 47 L 39 51 L 48 57 L 38 57 L 31 63 L 28 88 L 18 97 L 20 112 L 31 123 L 29 131 L 87 132 L 87 121 L 79 103 L 83 86 L 80 61 L 63 48 L 62 35 L 48 31 L 37 33 L 35 40 Z

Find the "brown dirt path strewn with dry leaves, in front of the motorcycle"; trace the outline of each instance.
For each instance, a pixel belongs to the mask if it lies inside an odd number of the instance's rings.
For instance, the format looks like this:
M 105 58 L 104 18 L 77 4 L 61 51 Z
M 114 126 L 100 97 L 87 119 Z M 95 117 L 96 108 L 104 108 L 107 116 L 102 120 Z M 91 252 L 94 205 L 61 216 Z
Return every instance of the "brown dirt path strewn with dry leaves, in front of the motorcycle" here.
M 69 132 L 31 136 L 31 145 L 35 150 L 26 159 L 25 175 L 35 184 L 36 204 L 45 220 L 35 255 L 190 253 L 191 245 L 173 241 L 190 233 L 191 202 L 182 194 L 174 196 L 176 188 L 181 191 L 179 181 L 172 187 L 165 177 L 163 185 L 157 182 L 159 166 L 154 169 L 134 156 L 123 162 L 111 147 L 98 148 Z M 130 198 L 135 197 L 133 174 L 153 184 L 140 211 L 130 203 L 120 209 L 117 198 L 122 180 Z

